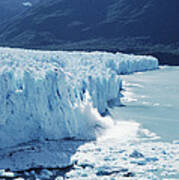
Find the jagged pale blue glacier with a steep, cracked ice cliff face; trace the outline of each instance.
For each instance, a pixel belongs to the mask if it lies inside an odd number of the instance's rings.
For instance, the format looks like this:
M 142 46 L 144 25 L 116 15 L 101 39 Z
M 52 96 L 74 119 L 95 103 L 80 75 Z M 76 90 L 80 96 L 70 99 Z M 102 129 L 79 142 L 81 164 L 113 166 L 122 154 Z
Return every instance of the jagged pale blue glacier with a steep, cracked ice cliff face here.
M 120 105 L 120 74 L 158 68 L 151 56 L 0 48 L 0 144 L 93 139 L 108 105 Z

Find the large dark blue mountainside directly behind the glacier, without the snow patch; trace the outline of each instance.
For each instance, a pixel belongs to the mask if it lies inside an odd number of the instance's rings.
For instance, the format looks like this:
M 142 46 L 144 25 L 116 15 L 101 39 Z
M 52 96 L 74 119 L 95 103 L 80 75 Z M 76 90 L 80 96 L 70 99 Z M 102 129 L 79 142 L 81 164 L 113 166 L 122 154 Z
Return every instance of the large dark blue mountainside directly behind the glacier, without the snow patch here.
M 152 54 L 178 64 L 179 1 L 46 0 L 3 25 L 0 45 Z

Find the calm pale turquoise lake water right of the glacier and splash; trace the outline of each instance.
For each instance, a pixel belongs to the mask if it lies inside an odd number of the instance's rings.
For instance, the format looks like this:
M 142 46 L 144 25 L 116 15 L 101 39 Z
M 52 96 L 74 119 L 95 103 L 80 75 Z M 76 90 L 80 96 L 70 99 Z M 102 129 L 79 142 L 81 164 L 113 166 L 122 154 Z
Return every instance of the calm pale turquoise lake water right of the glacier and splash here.
M 164 141 L 179 139 L 179 67 L 122 76 L 124 108 L 114 117 L 134 120 Z

